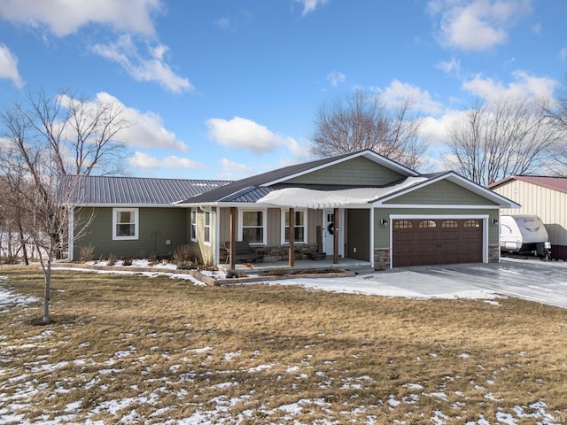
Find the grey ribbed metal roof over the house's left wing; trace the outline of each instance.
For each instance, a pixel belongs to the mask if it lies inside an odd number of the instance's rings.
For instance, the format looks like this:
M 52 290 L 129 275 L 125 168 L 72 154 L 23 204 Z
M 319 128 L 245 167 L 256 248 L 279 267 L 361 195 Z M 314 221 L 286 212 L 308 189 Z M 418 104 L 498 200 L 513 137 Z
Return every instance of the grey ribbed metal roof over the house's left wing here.
M 171 205 L 228 184 L 218 180 L 68 176 L 74 205 Z

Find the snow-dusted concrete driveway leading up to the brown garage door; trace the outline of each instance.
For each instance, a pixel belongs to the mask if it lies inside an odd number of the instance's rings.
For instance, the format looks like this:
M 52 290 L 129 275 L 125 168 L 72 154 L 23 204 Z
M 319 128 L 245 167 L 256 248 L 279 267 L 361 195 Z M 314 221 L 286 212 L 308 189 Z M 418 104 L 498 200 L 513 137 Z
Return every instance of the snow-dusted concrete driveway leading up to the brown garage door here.
M 406 298 L 523 298 L 567 308 L 567 263 L 502 259 L 493 264 L 406 267 L 333 279 L 271 282 L 313 290 Z

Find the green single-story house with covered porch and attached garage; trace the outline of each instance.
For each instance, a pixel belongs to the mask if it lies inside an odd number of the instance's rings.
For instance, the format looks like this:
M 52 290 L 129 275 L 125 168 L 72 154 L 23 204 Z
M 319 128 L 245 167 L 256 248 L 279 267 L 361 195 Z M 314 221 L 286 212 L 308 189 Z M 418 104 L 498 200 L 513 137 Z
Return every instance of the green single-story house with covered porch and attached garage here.
M 419 174 L 369 150 L 237 182 L 193 181 L 200 192 L 188 187 L 170 204 L 149 202 L 155 192 L 134 198 L 133 185 L 133 198 L 111 196 L 97 187 L 105 178 L 83 179 L 94 186 L 81 204 L 97 212 L 70 257 L 89 243 L 100 255 L 158 252 L 166 238 L 167 252 L 187 244 L 206 264 L 232 269 L 243 244 L 243 260 L 290 265 L 321 256 L 375 268 L 499 261 L 500 209 L 519 206 L 454 172 Z

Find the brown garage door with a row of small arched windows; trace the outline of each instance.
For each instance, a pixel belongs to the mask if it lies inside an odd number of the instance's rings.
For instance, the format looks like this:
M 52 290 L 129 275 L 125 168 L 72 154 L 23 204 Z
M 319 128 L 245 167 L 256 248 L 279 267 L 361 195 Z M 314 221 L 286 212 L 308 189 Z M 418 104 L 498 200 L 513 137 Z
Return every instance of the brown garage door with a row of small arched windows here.
M 482 220 L 392 220 L 392 267 L 480 263 Z

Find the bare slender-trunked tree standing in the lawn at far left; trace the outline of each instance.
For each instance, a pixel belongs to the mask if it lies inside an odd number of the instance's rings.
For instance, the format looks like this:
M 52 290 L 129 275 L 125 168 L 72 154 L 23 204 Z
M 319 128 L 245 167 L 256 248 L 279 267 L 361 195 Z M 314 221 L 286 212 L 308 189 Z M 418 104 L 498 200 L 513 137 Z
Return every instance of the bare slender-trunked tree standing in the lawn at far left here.
M 22 213 L 21 234 L 35 245 L 41 262 L 43 322 L 49 322 L 51 264 L 68 242 L 69 201 L 78 182 L 71 174 L 118 172 L 124 145 L 115 137 L 128 124 L 115 104 L 41 92 L 29 96 L 26 106 L 1 112 L 0 125 L 0 174 Z

